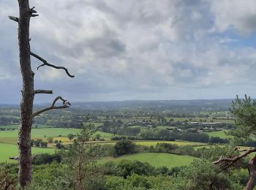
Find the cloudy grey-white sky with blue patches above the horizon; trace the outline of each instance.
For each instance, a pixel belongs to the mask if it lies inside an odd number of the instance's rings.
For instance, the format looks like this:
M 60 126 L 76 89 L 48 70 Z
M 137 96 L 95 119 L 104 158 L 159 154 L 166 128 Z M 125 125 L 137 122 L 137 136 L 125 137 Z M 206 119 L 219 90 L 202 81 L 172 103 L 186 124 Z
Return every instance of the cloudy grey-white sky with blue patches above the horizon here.
M 256 97 L 255 0 L 30 1 L 35 102 Z M 22 88 L 18 1 L 0 1 L 0 103 Z

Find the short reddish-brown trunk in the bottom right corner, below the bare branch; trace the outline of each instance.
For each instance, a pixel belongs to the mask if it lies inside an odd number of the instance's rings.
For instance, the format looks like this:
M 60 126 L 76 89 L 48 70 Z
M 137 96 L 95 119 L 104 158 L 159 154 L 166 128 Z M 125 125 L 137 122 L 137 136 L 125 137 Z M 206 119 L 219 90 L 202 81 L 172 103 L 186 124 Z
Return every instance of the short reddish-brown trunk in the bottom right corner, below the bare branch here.
M 254 156 L 248 164 L 249 180 L 244 190 L 252 190 L 256 186 L 256 156 Z

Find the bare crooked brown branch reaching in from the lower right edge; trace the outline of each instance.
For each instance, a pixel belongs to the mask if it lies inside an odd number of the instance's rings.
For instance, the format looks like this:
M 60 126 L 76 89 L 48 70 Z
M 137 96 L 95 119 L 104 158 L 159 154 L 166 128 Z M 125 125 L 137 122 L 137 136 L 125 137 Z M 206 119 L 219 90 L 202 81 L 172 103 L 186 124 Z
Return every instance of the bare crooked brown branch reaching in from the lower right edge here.
M 253 153 L 256 152 L 256 148 L 252 148 L 249 150 L 242 150 L 244 151 L 244 153 L 234 157 L 234 158 L 226 158 L 226 157 L 222 157 L 220 156 L 220 158 L 217 161 L 212 162 L 212 164 L 220 164 L 220 167 L 222 168 L 222 170 L 227 170 L 228 167 L 230 167 L 231 165 L 233 165 L 236 161 L 238 161 L 239 159 L 244 158 L 245 156 L 247 156 L 249 153 Z

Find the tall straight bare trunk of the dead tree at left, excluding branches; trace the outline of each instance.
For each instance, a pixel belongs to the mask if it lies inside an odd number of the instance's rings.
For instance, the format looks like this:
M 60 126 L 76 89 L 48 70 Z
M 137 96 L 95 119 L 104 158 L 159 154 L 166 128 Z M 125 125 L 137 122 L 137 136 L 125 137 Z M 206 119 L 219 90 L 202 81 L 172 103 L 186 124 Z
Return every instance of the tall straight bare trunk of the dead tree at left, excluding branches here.
M 23 80 L 20 102 L 20 127 L 18 134 L 19 183 L 23 188 L 31 182 L 31 126 L 34 101 L 34 72 L 31 70 L 29 21 L 31 10 L 29 0 L 18 0 L 20 17 L 18 22 L 18 45 L 20 71 Z

